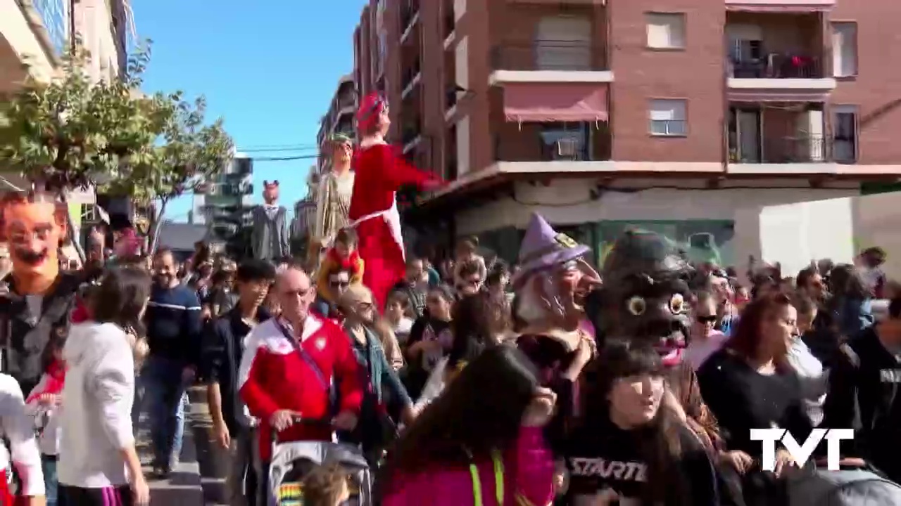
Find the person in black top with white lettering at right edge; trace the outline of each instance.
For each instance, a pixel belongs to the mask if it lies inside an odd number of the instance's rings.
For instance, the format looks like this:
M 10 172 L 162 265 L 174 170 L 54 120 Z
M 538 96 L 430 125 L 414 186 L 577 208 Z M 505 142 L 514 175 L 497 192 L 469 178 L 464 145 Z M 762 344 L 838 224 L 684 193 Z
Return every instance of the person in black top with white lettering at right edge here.
M 888 319 L 839 348 L 829 375 L 821 427 L 854 429 L 842 457 L 858 457 L 901 483 L 901 298 Z

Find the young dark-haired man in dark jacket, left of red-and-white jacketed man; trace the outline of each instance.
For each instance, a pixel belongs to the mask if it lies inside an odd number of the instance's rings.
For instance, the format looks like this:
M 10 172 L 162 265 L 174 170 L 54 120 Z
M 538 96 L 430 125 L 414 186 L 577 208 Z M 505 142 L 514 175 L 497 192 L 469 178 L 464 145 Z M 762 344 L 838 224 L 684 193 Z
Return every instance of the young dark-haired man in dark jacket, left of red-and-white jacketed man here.
M 254 503 L 256 490 L 255 423 L 238 397 L 238 367 L 244 352 L 243 341 L 254 327 L 268 320 L 260 304 L 266 298 L 276 271 L 265 260 L 250 260 L 238 267 L 238 303 L 229 312 L 207 325 L 203 364 L 206 392 L 218 443 L 232 458 L 226 481 L 228 503 Z

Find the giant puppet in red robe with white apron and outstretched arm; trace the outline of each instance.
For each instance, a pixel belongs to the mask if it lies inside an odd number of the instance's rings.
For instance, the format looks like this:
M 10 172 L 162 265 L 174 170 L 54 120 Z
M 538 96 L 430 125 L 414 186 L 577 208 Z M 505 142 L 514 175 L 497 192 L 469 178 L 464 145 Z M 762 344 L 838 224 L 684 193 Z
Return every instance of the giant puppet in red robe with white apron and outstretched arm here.
M 356 176 L 348 212 L 350 226 L 359 237 L 359 256 L 366 263 L 363 285 L 369 286 L 379 310 L 405 272 L 397 190 L 402 185 L 441 185 L 438 178 L 412 167 L 385 142 L 390 123 L 385 99 L 368 95 L 357 113 L 363 140 L 354 160 Z

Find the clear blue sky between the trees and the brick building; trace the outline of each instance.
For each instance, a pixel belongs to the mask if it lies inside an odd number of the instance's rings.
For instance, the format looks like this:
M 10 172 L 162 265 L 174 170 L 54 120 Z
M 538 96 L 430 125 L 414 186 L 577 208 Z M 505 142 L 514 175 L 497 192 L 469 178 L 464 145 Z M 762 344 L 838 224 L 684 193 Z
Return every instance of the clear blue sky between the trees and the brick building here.
M 364 0 L 132 0 L 141 39 L 153 40 L 145 91 L 205 95 L 239 150 L 312 147 L 338 79 L 353 69 L 353 30 Z M 309 155 L 252 152 L 256 157 Z M 278 179 L 291 209 L 306 194 L 314 159 L 254 164 L 255 199 Z M 189 196 L 168 219 L 187 221 Z

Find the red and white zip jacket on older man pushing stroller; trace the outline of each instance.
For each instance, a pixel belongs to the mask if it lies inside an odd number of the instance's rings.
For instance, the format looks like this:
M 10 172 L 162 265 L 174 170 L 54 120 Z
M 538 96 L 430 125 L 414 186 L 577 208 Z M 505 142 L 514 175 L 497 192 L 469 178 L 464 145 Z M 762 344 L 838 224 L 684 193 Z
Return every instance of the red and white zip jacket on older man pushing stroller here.
M 241 401 L 250 414 L 260 420 L 260 456 L 268 460 L 271 432 L 268 420 L 278 410 L 297 411 L 302 417 L 321 420 L 333 412 L 329 384 L 337 384 L 338 411 L 359 415 L 363 387 L 359 362 L 350 348 L 350 339 L 332 321 L 309 314 L 304 322 L 299 345 L 319 366 L 320 379 L 295 345 L 279 330 L 284 319 L 272 318 L 260 323 L 244 340 L 238 386 Z M 324 382 L 323 382 L 324 380 Z M 332 430 L 296 424 L 278 435 L 280 441 L 331 441 Z

